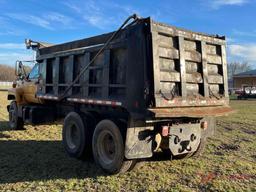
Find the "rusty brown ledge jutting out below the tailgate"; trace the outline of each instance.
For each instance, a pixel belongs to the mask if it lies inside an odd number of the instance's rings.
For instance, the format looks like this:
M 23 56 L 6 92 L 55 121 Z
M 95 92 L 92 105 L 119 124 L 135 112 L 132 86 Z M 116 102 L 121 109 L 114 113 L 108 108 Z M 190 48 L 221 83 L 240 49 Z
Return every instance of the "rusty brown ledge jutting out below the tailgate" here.
M 234 113 L 229 106 L 218 107 L 177 107 L 177 108 L 150 108 L 155 118 L 167 117 L 218 117 Z

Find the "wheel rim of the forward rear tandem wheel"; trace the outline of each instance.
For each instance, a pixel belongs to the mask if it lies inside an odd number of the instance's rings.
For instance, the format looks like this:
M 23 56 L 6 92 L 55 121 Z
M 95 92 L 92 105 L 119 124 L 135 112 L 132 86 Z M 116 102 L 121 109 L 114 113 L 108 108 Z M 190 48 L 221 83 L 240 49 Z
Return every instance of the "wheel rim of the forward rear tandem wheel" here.
M 75 124 L 70 125 L 66 132 L 67 144 L 70 149 L 75 149 L 79 145 L 79 130 Z

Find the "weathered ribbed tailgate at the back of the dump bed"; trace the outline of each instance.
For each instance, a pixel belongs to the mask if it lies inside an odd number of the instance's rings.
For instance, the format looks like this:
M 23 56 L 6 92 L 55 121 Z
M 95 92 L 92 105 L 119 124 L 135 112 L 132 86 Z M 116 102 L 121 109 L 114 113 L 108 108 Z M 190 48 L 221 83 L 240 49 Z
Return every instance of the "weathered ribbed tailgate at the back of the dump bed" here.
M 155 107 L 227 105 L 224 38 L 150 24 Z

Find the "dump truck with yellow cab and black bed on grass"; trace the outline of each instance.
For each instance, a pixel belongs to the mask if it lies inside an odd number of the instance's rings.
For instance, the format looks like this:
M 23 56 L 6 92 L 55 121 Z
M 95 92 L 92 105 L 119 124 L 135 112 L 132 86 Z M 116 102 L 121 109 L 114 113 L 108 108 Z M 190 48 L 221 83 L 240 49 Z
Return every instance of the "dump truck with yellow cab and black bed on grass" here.
M 93 156 L 106 172 L 140 159 L 201 154 L 229 107 L 225 37 L 130 16 L 111 33 L 63 44 L 26 41 L 29 74 L 16 63 L 9 124 L 64 119 L 69 156 Z

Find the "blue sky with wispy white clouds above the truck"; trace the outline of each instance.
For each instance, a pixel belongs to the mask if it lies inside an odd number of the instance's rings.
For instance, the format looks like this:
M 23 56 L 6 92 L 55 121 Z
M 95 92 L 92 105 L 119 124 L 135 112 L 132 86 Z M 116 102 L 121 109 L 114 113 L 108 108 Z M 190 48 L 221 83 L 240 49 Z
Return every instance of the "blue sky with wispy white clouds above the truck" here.
M 225 35 L 228 62 L 256 68 L 256 0 L 0 0 L 0 64 L 33 59 L 24 40 L 63 43 L 116 30 L 131 14 Z

